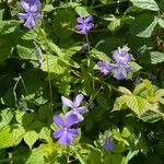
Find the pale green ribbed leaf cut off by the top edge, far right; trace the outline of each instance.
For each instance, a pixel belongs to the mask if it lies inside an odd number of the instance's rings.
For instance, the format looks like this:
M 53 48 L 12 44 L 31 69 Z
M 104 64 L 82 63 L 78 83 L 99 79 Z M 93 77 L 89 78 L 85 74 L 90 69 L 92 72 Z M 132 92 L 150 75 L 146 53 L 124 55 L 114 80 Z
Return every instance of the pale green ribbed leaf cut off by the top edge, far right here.
M 141 8 L 141 9 L 147 9 L 151 11 L 159 11 L 159 5 L 155 2 L 155 0 L 130 0 L 133 5 Z

